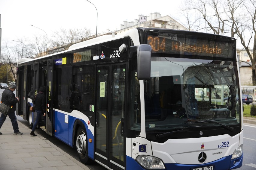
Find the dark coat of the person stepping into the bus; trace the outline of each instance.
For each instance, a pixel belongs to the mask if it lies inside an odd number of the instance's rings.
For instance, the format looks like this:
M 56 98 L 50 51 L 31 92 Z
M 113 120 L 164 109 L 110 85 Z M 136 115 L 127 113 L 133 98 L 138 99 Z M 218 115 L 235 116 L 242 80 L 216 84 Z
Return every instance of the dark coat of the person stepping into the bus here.
M 43 92 L 39 92 L 33 98 L 33 104 L 35 110 L 41 110 L 46 113 L 46 95 Z

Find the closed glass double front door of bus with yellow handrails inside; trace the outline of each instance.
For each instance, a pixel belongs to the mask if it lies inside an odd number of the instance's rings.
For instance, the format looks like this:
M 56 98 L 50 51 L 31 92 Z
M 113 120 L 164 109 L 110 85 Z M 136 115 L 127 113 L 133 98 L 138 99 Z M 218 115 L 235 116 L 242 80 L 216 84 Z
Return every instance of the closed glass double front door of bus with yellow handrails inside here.
M 96 67 L 96 162 L 124 169 L 126 63 Z

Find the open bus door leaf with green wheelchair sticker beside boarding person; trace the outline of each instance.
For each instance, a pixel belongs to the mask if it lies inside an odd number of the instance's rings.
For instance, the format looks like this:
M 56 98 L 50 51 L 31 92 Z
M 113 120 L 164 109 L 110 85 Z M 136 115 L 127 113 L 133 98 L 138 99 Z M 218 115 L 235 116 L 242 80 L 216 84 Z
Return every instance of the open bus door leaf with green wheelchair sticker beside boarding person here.
M 53 60 L 47 60 L 47 86 L 46 86 L 46 133 L 52 136 L 53 129 Z

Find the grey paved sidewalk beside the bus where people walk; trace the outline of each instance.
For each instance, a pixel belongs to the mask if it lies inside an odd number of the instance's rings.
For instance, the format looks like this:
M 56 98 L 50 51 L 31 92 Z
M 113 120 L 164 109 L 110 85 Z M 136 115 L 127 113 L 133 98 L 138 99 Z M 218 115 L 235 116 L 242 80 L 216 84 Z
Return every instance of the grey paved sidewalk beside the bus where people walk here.
M 23 135 L 13 135 L 8 117 L 1 128 L 0 170 L 89 170 L 38 133 L 30 136 L 31 129 L 17 122 Z

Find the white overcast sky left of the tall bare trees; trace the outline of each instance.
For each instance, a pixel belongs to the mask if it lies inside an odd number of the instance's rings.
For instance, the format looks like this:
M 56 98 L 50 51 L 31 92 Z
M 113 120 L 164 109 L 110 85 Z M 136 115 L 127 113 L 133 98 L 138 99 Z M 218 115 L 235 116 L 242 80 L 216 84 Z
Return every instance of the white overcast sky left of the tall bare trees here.
M 98 11 L 97 33 L 119 30 L 123 21 L 159 12 L 178 17 L 180 0 L 90 0 Z M 0 0 L 2 45 L 34 35 L 50 39 L 61 28 L 88 28 L 96 33 L 97 12 L 87 0 Z M 41 28 L 46 34 L 34 25 Z

